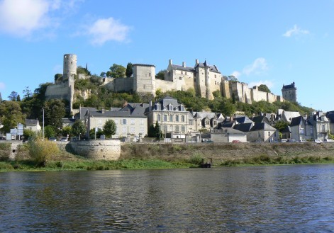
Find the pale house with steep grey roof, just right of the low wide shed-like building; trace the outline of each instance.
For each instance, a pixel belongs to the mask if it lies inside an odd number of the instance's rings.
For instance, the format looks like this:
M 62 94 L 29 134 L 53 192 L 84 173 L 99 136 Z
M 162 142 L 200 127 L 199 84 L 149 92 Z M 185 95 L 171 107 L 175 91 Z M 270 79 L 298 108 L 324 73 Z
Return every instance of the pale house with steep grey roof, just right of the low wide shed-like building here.
M 267 123 L 254 123 L 248 132 L 248 142 L 274 142 L 279 138 L 279 131 Z

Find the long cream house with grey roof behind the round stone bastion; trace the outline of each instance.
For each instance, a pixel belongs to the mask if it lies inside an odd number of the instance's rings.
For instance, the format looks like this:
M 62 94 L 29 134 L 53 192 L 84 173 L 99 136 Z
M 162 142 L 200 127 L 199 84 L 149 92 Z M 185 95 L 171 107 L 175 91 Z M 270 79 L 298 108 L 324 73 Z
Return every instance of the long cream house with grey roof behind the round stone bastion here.
M 87 110 L 84 123 L 87 126 L 87 137 L 89 131 L 94 128 L 103 129 L 107 120 L 116 123 L 116 134 L 113 138 L 129 137 L 130 135 L 140 137 L 147 135 L 147 116 L 145 107 L 138 105 L 126 105 L 121 110 Z

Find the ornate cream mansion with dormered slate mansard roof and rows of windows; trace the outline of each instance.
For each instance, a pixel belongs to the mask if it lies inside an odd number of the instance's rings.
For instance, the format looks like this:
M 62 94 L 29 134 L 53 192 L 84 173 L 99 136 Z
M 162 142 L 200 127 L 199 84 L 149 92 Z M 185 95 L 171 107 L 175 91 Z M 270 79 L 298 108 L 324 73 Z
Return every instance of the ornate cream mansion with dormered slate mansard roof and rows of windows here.
M 162 134 L 169 132 L 187 134 L 189 130 L 189 112 L 176 98 L 166 96 L 152 103 L 145 110 L 147 126 L 158 123 Z

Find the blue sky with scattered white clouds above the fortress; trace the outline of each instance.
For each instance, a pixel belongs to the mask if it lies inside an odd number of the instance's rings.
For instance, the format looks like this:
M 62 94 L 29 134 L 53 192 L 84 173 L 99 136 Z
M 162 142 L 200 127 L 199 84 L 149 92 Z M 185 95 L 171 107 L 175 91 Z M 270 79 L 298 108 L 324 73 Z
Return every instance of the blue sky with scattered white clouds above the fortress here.
M 92 74 L 112 64 L 154 64 L 156 72 L 195 59 L 303 106 L 334 110 L 334 0 L 0 0 L 0 92 L 52 82 L 63 55 Z

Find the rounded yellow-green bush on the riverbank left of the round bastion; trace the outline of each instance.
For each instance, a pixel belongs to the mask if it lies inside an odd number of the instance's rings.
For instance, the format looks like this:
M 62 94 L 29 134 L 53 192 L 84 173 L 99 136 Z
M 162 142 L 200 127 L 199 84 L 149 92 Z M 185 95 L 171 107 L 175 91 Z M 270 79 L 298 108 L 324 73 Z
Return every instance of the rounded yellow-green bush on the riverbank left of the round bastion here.
M 37 140 L 29 143 L 30 157 L 38 164 L 45 165 L 55 159 L 58 153 L 59 148 L 55 142 Z

